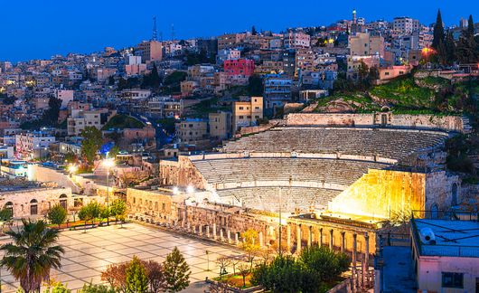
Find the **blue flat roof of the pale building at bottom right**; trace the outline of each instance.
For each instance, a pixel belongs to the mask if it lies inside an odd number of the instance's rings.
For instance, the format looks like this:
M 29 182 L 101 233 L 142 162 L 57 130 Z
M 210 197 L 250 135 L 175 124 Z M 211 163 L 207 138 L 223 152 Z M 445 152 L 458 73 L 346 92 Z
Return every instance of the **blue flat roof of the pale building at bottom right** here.
M 479 222 L 414 219 L 414 240 L 420 255 L 479 258 Z M 421 229 L 430 229 L 436 244 L 420 239 Z

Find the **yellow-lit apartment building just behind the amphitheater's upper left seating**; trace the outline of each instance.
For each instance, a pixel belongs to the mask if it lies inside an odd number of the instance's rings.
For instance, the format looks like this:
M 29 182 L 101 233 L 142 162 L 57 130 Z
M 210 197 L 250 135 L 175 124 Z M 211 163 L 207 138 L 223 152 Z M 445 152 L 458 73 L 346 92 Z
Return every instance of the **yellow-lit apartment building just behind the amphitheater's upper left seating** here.
M 250 97 L 233 103 L 233 131 L 258 125 L 263 118 L 263 97 Z

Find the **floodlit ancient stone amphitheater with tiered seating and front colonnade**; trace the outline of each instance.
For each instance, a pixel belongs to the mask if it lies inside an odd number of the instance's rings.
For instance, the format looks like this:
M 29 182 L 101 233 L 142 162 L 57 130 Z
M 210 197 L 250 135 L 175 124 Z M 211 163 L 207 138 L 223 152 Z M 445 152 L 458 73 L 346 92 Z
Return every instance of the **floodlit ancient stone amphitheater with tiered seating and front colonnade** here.
M 221 241 L 254 228 L 261 245 L 281 237 L 292 252 L 316 243 L 369 255 L 384 222 L 461 200 L 445 142 L 469 131 L 466 118 L 289 114 L 249 130 L 214 152 L 161 161 L 162 188 L 128 189 L 132 217 Z

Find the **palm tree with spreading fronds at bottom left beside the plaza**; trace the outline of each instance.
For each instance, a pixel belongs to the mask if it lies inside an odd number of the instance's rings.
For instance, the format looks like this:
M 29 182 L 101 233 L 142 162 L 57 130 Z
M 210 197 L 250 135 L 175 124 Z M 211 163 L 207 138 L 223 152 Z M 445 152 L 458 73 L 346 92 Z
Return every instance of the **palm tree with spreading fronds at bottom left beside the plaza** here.
M 61 253 L 56 245 L 58 231 L 43 221 L 22 220 L 23 228 L 6 232 L 13 242 L 0 247 L 5 256 L 0 265 L 8 269 L 25 293 L 40 292 L 42 281 L 50 277 L 50 269 L 60 269 Z

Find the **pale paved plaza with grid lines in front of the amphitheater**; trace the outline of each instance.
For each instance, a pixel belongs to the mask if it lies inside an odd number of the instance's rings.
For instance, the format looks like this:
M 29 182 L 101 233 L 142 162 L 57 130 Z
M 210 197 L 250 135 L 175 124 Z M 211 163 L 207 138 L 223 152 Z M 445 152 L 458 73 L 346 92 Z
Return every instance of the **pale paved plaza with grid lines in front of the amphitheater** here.
M 182 251 L 192 270 L 192 285 L 185 292 L 203 292 L 201 283 L 204 278 L 217 277 L 220 272 L 216 258 L 241 254 L 240 250 L 221 244 L 187 238 L 136 223 L 128 223 L 124 228 L 100 227 L 87 233 L 81 230 L 65 231 L 60 233 L 59 239 L 65 254 L 61 259 L 61 269 L 53 269 L 51 278 L 67 283 L 73 292 L 90 280 L 100 283 L 101 271 L 111 263 L 131 260 L 134 255 L 142 260 L 162 262 L 174 246 Z M 0 244 L 8 241 L 2 240 Z M 208 258 L 205 250 L 211 251 Z M 0 257 L 2 256 L 3 253 L 0 252 Z M 208 271 L 208 268 L 211 270 Z M 15 292 L 19 286 L 6 269 L 2 269 L 1 279 L 2 292 Z

